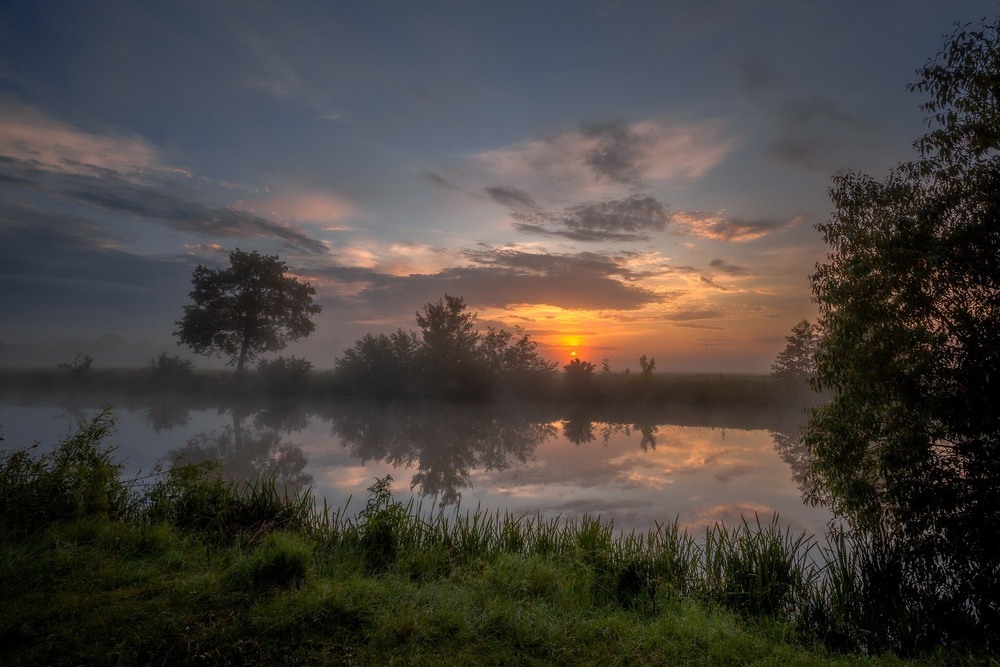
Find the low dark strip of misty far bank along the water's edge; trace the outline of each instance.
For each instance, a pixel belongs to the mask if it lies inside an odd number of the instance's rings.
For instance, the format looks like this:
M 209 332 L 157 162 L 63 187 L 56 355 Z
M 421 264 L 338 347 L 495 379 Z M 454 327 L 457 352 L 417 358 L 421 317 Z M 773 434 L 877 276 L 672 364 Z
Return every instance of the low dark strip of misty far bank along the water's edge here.
M 585 378 L 581 391 L 567 372 L 512 375 L 478 386 L 478 391 L 442 394 L 426 387 L 387 382 L 385 387 L 356 382 L 336 370 L 289 373 L 274 377 L 266 371 L 190 369 L 174 374 L 146 368 L 0 368 L 0 396 L 93 396 L 96 399 L 190 397 L 192 400 L 233 399 L 445 400 L 460 403 L 491 400 L 543 401 L 594 405 L 748 405 L 806 406 L 824 399 L 804 377 L 783 378 L 765 373 L 596 372 Z M 99 401 L 98 401 L 99 402 Z

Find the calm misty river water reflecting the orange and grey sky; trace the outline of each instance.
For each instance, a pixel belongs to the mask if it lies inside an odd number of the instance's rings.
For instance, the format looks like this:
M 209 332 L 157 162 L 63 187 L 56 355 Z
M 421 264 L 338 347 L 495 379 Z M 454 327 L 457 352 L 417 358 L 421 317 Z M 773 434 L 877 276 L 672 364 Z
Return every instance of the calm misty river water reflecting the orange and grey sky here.
M 99 407 L 0 403 L 0 447 L 50 447 Z M 586 410 L 553 416 L 520 404 L 405 402 L 324 409 L 168 402 L 115 414 L 110 442 L 127 476 L 157 463 L 218 459 L 231 479 L 273 476 L 350 513 L 364 507 L 376 477 L 391 475 L 394 495 L 412 496 L 425 512 L 599 515 L 625 531 L 677 518 L 695 533 L 777 513 L 782 524 L 815 535 L 831 518 L 802 502 L 800 412 L 787 408 L 752 417 L 659 411 L 629 421 Z

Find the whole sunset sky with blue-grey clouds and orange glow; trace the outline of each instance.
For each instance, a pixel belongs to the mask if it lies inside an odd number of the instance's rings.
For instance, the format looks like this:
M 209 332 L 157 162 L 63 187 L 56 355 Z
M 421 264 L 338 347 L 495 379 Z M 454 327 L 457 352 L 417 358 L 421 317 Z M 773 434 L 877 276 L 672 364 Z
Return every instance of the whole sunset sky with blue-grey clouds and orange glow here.
M 318 368 L 449 294 L 560 364 L 767 372 L 832 177 L 914 157 L 908 84 L 997 8 L 4 0 L 0 342 L 181 353 L 239 248 L 316 288 Z

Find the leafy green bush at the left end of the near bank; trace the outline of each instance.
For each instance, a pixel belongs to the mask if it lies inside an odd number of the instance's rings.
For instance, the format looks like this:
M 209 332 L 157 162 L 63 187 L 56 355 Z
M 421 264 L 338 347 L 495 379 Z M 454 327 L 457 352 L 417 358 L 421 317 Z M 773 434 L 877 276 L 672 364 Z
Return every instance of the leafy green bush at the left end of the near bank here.
M 102 442 L 114 426 L 114 415 L 105 409 L 51 452 L 39 453 L 38 444 L 0 452 L 0 525 L 31 531 L 54 521 L 127 512 L 122 466 L 112 460 L 115 448 Z

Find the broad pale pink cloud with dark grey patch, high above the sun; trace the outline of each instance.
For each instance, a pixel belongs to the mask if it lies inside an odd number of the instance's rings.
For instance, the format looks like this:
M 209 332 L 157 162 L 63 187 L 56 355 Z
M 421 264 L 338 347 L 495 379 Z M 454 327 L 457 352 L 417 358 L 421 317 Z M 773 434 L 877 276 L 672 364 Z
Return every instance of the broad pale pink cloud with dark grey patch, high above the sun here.
M 607 194 L 622 186 L 696 180 L 732 148 L 733 141 L 719 121 L 589 123 L 478 153 L 455 173 L 561 200 Z

